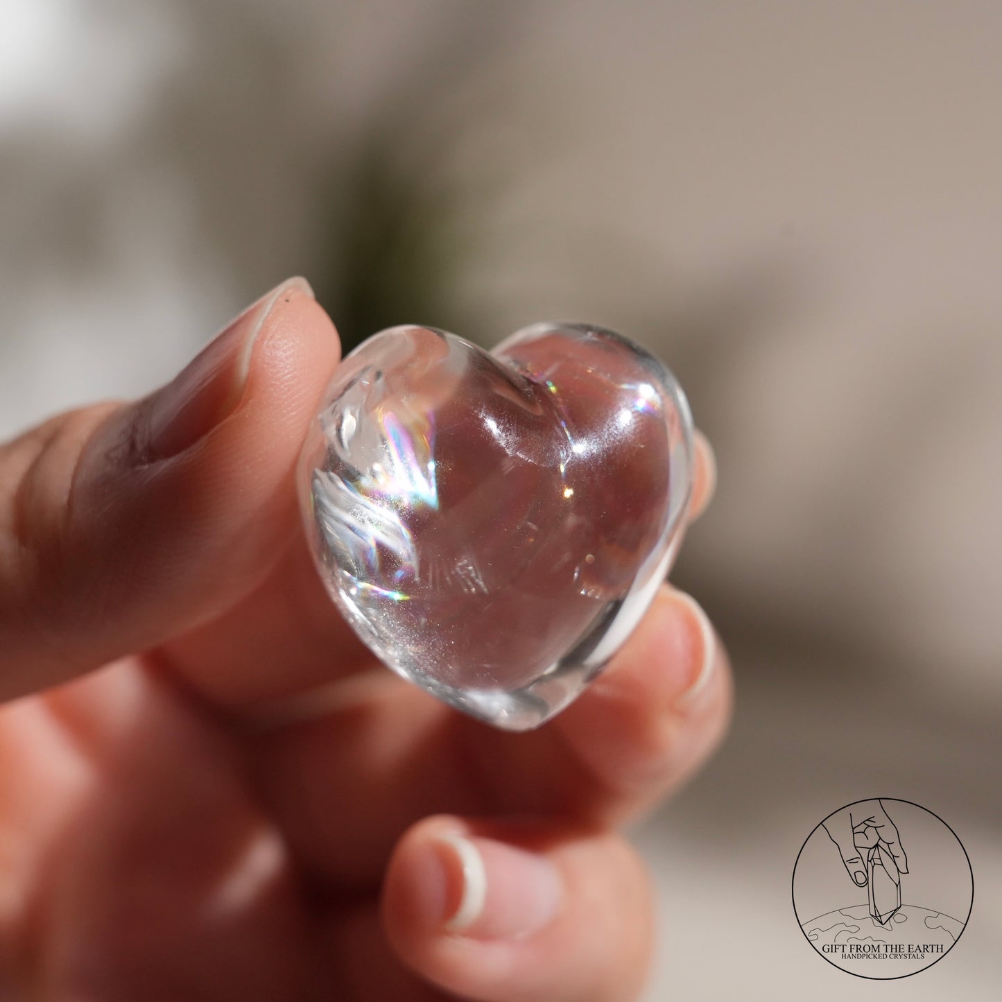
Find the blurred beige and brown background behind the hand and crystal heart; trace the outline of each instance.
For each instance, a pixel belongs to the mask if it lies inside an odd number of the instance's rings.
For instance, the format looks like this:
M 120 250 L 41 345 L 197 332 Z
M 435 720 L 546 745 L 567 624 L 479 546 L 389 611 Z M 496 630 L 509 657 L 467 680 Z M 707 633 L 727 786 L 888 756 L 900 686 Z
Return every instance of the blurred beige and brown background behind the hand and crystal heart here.
M 995 999 L 1000 42 L 995 0 L 0 0 L 0 434 L 151 389 L 295 273 L 349 343 L 645 343 L 717 450 L 673 577 L 738 688 L 635 833 L 648 998 Z M 879 796 L 953 827 L 974 911 L 849 982 L 791 875 Z

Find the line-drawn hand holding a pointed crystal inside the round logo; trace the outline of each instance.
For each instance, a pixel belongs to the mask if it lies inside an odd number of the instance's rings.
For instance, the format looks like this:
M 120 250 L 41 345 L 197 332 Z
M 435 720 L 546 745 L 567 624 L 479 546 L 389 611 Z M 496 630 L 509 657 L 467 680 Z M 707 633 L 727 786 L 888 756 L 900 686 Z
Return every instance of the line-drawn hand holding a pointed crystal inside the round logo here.
M 851 804 L 826 819 L 824 826 L 850 880 L 867 888 L 870 917 L 888 926 L 901 908 L 901 875 L 908 873 L 908 858 L 884 805 L 879 800 Z

